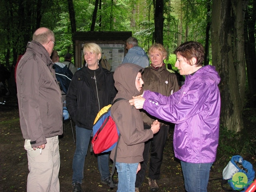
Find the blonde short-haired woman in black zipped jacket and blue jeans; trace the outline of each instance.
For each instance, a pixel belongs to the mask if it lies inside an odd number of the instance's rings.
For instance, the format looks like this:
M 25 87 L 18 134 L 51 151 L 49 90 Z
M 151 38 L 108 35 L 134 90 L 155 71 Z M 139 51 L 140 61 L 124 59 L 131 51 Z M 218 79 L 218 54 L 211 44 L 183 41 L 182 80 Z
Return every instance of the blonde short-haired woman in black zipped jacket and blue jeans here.
M 84 161 L 96 115 L 101 108 L 111 104 L 116 96 L 112 73 L 99 65 L 102 55 L 100 46 L 86 43 L 83 52 L 85 66 L 74 74 L 66 95 L 68 112 L 76 124 L 76 152 L 72 165 L 73 192 L 82 192 Z M 100 181 L 110 186 L 108 163 L 108 153 L 98 154 Z M 114 186 L 117 186 L 116 182 Z

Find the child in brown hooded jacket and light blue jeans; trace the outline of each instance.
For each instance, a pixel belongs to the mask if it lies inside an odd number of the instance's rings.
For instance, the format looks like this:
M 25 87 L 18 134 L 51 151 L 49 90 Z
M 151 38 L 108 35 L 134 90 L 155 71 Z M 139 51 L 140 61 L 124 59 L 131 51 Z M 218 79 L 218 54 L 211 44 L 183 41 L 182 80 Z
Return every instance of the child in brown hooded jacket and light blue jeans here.
M 116 152 L 117 192 L 135 191 L 136 173 L 140 170 L 140 162 L 143 161 L 144 142 L 152 138 L 160 128 L 158 120 L 155 120 L 152 121 L 150 129 L 144 129 L 140 111 L 128 102 L 132 96 L 141 94 L 142 71 L 141 66 L 126 63 L 118 66 L 114 72 L 115 86 L 118 90 L 114 100 L 125 99 L 115 102 L 110 109 L 111 117 L 121 135 L 117 150 L 115 147 L 110 154 L 110 158 L 114 160 Z

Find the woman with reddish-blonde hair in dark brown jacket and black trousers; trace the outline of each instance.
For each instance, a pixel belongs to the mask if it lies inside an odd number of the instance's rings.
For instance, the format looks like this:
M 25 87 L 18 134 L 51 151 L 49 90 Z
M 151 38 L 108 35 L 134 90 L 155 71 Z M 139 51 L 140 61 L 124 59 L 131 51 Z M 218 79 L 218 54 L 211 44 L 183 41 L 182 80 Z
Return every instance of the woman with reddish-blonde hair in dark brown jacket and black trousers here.
M 148 50 L 148 55 L 151 60 L 151 65 L 146 67 L 142 73 L 144 80 L 143 90 L 158 92 L 165 96 L 169 96 L 179 90 L 178 81 L 174 73 L 170 73 L 166 69 L 164 59 L 167 56 L 167 51 L 162 44 L 153 44 Z M 148 114 L 145 110 L 141 110 L 144 129 L 150 129 L 151 123 L 155 117 Z M 148 164 L 148 154 L 150 153 L 150 164 L 148 170 L 148 185 L 151 191 L 158 191 L 156 180 L 160 178 L 160 168 L 163 160 L 164 146 L 168 135 L 169 122 L 158 120 L 160 122 L 160 130 L 154 137 L 145 142 L 143 159 L 140 164 L 141 170 L 136 176 L 136 192 L 146 175 Z

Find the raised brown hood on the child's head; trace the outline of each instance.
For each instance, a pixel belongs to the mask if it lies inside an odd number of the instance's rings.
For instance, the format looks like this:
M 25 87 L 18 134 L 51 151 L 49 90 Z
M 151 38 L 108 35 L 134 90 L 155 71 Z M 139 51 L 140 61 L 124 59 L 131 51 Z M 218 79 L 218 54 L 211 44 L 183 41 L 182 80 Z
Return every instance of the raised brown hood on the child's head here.
M 116 98 L 131 99 L 132 96 L 140 95 L 135 86 L 135 80 L 138 72 L 144 68 L 132 63 L 119 65 L 114 72 L 115 87 L 118 90 Z

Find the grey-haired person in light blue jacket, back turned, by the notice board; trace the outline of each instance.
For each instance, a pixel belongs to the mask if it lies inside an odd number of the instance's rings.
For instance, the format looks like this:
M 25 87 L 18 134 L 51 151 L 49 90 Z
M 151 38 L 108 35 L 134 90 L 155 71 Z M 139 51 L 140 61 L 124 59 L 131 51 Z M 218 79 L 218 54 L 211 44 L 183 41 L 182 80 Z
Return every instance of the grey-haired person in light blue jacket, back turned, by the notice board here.
M 128 53 L 122 63 L 133 63 L 143 68 L 149 66 L 148 56 L 146 52 L 138 46 L 138 40 L 136 38 L 129 37 L 126 40 L 126 49 Z

